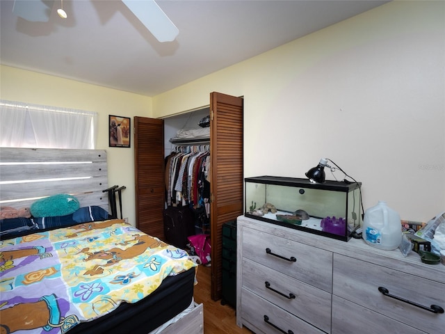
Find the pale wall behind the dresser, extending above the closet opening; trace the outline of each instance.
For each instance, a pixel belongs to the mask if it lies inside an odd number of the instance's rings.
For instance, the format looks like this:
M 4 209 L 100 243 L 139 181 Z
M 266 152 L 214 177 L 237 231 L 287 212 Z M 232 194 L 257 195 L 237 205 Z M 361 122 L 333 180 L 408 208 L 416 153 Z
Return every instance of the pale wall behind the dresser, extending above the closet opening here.
M 158 95 L 154 116 L 243 95 L 245 177 L 305 177 L 327 157 L 365 209 L 428 221 L 445 209 L 444 17 L 444 1 L 387 3 Z

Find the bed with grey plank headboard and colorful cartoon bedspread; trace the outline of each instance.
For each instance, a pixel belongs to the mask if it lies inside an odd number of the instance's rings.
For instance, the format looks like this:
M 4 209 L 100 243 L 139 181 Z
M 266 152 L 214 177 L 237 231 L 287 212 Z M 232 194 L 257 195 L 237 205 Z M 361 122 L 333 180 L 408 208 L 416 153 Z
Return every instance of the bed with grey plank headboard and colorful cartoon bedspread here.
M 0 168 L 1 207 L 79 200 L 66 216 L 1 221 L 1 333 L 203 333 L 188 254 L 104 214 L 104 150 L 2 148 Z

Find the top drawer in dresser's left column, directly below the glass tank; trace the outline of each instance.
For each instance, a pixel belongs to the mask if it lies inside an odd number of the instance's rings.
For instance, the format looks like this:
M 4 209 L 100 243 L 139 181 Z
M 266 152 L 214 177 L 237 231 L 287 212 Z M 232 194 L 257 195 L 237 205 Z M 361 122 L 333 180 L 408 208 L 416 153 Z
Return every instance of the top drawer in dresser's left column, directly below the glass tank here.
M 250 228 L 243 229 L 243 257 L 327 292 L 332 291 L 332 253 Z

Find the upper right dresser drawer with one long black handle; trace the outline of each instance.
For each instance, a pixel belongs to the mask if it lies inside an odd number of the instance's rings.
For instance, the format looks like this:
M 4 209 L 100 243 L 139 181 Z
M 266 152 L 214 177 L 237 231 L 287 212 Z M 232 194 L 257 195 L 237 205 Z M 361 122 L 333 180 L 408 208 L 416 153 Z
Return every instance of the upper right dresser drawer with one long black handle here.
M 419 266 L 419 270 L 421 267 Z M 445 309 L 443 283 L 334 254 L 334 295 L 426 333 L 443 333 L 445 313 L 428 312 L 410 303 L 385 296 L 379 292 L 379 287 L 385 287 L 389 294 L 426 308 L 439 305 Z

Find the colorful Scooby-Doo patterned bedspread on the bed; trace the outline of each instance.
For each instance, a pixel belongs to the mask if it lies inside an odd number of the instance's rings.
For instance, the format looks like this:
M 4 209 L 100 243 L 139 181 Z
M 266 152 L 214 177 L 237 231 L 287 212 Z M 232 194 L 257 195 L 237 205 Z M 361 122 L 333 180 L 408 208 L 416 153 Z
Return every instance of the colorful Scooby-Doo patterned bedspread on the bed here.
M 0 242 L 0 333 L 66 333 L 196 266 L 118 219 Z

